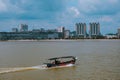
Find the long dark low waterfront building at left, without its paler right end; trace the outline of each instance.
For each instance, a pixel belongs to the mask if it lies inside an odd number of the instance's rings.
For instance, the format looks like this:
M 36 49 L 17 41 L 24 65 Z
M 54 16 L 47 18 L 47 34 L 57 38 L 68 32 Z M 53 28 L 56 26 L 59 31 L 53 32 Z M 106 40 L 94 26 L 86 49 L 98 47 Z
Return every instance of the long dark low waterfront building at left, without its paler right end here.
M 44 32 L 0 32 L 0 40 L 47 39 Z

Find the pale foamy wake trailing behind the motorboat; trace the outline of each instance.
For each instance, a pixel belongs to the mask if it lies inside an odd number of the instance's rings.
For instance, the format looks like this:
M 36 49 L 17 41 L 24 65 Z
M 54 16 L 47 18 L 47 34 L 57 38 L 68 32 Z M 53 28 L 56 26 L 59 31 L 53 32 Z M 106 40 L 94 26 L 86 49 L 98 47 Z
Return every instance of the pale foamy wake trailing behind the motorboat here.
M 32 66 L 32 67 L 0 68 L 0 74 L 21 72 L 21 71 L 27 71 L 27 70 L 36 70 L 36 69 L 43 70 L 47 68 L 45 67 L 45 65 L 38 65 L 38 66 Z

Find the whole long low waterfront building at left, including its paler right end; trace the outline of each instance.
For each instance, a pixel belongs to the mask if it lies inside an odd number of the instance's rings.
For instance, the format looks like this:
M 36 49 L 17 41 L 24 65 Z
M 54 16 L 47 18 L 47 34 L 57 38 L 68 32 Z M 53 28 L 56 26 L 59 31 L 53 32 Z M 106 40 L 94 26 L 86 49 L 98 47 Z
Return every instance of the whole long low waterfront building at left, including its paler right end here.
M 58 39 L 58 32 L 0 32 L 0 40 L 40 40 L 40 39 Z

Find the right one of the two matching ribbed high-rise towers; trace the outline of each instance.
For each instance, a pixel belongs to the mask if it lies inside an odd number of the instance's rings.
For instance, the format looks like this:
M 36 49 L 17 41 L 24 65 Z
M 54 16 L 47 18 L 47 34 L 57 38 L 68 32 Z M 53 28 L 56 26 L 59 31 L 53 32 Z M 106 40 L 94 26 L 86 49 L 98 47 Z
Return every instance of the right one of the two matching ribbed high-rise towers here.
M 100 24 L 99 23 L 90 23 L 90 38 L 97 38 L 100 35 Z

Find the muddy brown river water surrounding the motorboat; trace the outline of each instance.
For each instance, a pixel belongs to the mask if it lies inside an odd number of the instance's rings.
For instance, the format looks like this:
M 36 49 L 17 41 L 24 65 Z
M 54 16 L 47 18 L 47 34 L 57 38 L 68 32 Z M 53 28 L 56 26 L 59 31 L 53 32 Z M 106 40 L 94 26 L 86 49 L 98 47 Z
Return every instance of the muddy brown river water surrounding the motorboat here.
M 76 66 L 32 69 L 59 56 L 77 56 Z M 0 42 L 0 80 L 120 80 L 120 40 Z

